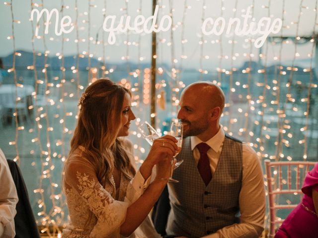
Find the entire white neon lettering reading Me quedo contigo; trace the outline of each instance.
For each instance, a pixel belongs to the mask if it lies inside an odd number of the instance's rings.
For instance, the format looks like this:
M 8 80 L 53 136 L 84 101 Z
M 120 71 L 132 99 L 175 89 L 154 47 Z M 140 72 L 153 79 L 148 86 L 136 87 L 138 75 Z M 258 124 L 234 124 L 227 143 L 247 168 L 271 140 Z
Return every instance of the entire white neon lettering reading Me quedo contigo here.
M 156 5 L 154 15 L 146 18 L 143 15 L 137 15 L 133 21 L 131 21 L 132 17 L 121 16 L 119 19 L 119 23 L 116 23 L 116 15 L 108 15 L 105 17 L 103 22 L 103 30 L 105 32 L 109 32 L 108 35 L 108 43 L 110 45 L 115 44 L 116 35 L 115 33 L 125 33 L 128 30 L 135 31 L 136 33 L 145 32 L 147 34 L 151 32 L 160 32 L 160 31 L 168 31 L 172 24 L 172 19 L 169 15 L 163 15 L 157 22 L 159 5 Z M 282 20 L 280 18 L 273 19 L 270 17 L 261 17 L 258 22 L 252 18 L 250 14 L 250 6 L 247 7 L 245 14 L 242 14 L 243 20 L 238 17 L 230 17 L 228 21 L 228 26 L 226 28 L 226 19 L 224 17 L 217 17 L 215 20 L 211 17 L 208 17 L 204 20 L 202 24 L 202 33 L 204 35 L 217 35 L 220 36 L 226 30 L 226 34 L 229 35 L 233 32 L 238 36 L 259 36 L 255 42 L 254 46 L 256 48 L 262 47 L 265 40 L 269 36 L 269 34 L 276 34 L 282 28 Z M 60 36 L 62 33 L 70 33 L 74 29 L 74 25 L 72 24 L 72 18 L 70 16 L 63 16 L 60 21 L 60 30 L 59 30 L 59 11 L 56 8 L 53 8 L 51 11 L 44 8 L 41 11 L 38 9 L 33 9 L 31 11 L 31 21 L 34 20 L 34 14 L 36 15 L 36 22 L 40 21 L 43 13 L 46 13 L 46 19 L 44 21 L 45 30 L 44 33 L 48 34 L 49 32 L 49 24 L 50 20 L 55 13 L 55 34 Z M 251 19 L 250 19 L 251 18 Z M 151 24 L 151 25 L 150 25 Z M 150 25 L 150 27 L 149 27 Z M 37 26 L 35 29 L 35 36 L 38 36 L 39 27 Z

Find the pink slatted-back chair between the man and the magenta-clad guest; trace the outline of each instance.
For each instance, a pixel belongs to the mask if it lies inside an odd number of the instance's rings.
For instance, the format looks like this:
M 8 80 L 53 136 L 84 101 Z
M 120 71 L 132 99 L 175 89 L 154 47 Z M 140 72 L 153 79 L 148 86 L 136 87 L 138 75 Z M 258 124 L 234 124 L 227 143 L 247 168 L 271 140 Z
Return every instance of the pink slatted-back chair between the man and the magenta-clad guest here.
M 305 176 L 316 163 L 265 160 L 270 214 L 269 235 L 271 238 L 275 236 L 276 225 L 284 221 L 278 215 L 279 210 L 289 209 L 291 212 L 298 205 L 303 197 L 301 188 Z

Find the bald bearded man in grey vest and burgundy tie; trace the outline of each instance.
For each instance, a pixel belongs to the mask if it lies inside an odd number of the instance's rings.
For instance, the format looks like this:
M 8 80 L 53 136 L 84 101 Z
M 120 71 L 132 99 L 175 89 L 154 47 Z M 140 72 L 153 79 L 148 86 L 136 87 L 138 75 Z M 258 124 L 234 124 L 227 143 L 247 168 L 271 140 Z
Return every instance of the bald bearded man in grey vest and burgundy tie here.
M 178 119 L 186 138 L 178 156 L 184 162 L 173 174 L 179 182 L 168 183 L 169 237 L 258 238 L 263 231 L 259 159 L 251 147 L 225 134 L 219 124 L 224 106 L 223 91 L 211 82 L 193 83 L 181 94 Z M 161 210 L 157 207 L 155 216 Z M 155 220 L 159 230 L 157 225 Z

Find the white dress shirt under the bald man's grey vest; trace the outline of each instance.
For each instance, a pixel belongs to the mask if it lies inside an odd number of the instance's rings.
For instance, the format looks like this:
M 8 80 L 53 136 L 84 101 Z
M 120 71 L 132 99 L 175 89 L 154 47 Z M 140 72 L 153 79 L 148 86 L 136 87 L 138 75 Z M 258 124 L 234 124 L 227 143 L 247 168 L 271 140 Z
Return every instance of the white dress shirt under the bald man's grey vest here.
M 222 127 L 218 133 L 208 141 L 201 141 L 191 136 L 191 150 L 198 163 L 200 152 L 196 148 L 201 142 L 211 148 L 207 155 L 210 161 L 212 176 L 218 166 L 221 156 L 225 133 Z M 242 144 L 242 183 L 239 192 L 240 223 L 224 227 L 205 238 L 258 238 L 264 230 L 265 217 L 265 190 L 263 173 L 256 152 L 247 144 Z

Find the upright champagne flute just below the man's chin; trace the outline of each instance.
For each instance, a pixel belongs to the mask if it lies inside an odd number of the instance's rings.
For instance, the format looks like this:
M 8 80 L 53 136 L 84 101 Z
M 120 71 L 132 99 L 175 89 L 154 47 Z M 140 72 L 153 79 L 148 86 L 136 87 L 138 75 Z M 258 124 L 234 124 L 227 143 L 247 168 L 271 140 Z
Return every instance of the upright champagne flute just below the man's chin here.
M 170 176 L 168 179 L 163 179 L 163 180 L 167 180 L 168 182 L 179 182 L 176 179 L 172 179 L 172 174 L 173 174 L 173 162 L 175 157 L 179 154 L 179 152 L 181 151 L 181 147 L 182 147 L 182 139 L 183 139 L 183 124 L 179 121 L 172 121 L 171 122 L 171 128 L 170 128 L 170 135 L 174 136 L 177 139 L 177 146 L 179 147 L 179 150 L 176 151 L 175 155 L 173 156 L 172 160 L 171 160 L 171 166 L 170 166 Z M 177 163 L 179 163 L 179 165 L 183 162 L 183 160 L 181 161 L 177 161 Z

